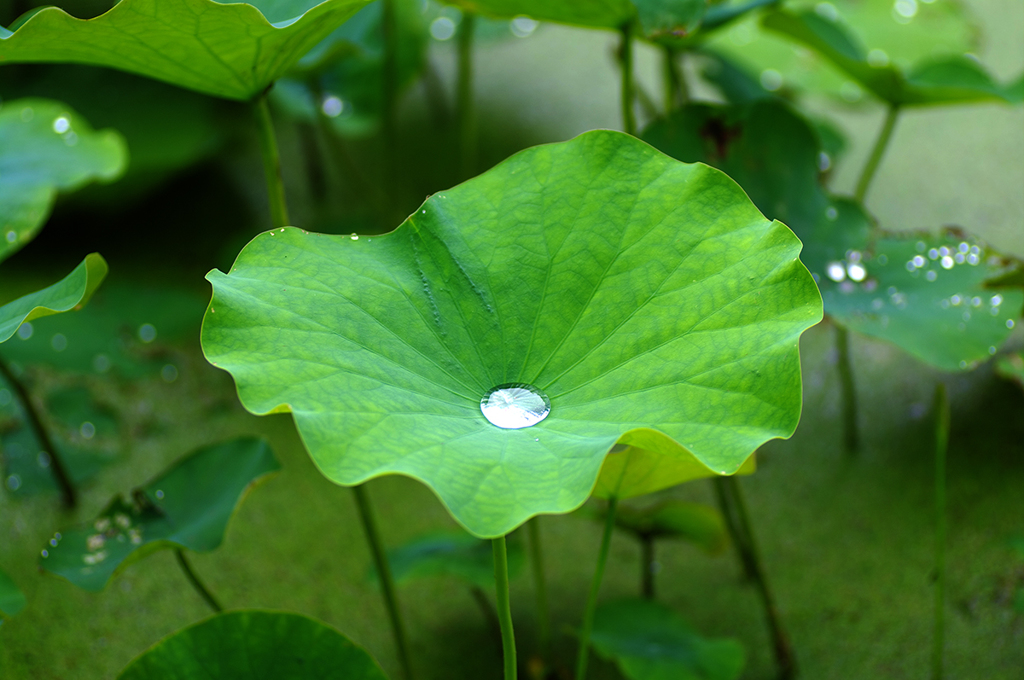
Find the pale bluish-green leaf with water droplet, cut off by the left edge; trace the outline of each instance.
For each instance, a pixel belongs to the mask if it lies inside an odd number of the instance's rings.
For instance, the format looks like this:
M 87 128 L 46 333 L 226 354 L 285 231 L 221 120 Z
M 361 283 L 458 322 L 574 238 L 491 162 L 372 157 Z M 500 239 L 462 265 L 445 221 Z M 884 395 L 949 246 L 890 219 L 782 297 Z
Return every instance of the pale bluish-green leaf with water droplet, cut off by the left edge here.
M 94 132 L 59 101 L 26 98 L 0 105 L 0 261 L 36 236 L 57 192 L 116 179 L 127 161 L 120 134 Z

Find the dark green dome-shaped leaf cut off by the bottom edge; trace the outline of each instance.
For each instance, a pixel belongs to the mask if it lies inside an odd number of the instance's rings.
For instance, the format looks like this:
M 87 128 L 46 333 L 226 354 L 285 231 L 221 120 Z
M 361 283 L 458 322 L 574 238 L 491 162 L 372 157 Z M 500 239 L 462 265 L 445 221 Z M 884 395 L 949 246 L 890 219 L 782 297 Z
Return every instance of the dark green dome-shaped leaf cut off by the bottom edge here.
M 387 680 L 362 647 L 336 629 L 286 611 L 219 613 L 170 634 L 118 680 Z

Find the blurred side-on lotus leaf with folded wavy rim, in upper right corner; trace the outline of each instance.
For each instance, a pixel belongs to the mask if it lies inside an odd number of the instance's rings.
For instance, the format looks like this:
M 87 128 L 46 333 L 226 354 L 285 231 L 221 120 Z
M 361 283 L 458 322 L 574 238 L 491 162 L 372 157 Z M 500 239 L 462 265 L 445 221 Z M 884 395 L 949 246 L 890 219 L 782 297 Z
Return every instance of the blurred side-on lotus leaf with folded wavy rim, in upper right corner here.
M 774 11 L 764 27 L 815 50 L 865 89 L 894 105 L 1015 102 L 1016 88 L 992 80 L 974 60 L 962 55 L 930 58 L 904 71 L 864 49 L 839 20 L 816 11 Z M 873 60 L 873 62 L 872 62 Z

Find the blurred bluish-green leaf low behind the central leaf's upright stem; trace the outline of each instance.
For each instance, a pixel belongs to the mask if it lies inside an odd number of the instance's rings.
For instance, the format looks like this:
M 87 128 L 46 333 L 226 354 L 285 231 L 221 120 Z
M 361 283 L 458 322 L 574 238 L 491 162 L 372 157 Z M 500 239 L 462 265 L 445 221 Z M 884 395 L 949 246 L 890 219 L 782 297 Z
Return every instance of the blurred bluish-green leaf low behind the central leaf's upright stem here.
M 522 545 L 508 544 L 509 576 L 515 577 L 525 563 Z M 396 583 L 436 576 L 453 576 L 489 591 L 495 585 L 494 549 L 465 532 L 437 532 L 422 536 L 387 551 L 391 576 Z M 371 571 L 377 579 L 377 570 Z

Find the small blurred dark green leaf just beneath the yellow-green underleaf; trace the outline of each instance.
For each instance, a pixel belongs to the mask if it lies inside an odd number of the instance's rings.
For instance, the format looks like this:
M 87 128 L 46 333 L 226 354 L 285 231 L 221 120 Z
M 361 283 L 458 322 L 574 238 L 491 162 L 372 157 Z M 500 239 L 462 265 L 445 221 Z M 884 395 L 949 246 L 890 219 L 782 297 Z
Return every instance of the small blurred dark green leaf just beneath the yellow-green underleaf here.
M 722 552 L 729 543 L 722 513 L 707 505 L 674 499 L 647 507 L 620 505 L 615 526 L 638 537 L 682 539 L 710 554 Z

